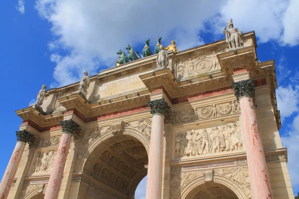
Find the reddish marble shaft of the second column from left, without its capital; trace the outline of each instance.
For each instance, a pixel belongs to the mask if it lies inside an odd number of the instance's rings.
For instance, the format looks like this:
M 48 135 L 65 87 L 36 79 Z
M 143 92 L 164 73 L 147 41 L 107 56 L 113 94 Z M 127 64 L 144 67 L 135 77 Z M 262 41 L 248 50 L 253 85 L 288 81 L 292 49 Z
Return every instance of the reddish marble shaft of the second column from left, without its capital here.
M 72 134 L 63 132 L 44 199 L 57 199 Z

